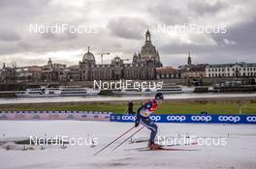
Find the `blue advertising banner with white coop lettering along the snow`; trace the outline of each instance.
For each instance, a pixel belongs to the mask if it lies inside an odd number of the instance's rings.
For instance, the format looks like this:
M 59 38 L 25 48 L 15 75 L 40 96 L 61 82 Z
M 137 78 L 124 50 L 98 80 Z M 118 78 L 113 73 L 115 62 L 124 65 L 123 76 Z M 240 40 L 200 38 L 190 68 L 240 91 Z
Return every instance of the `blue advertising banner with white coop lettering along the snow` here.
M 112 114 L 111 122 L 135 122 L 134 115 Z M 256 124 L 255 115 L 182 115 L 156 114 L 150 119 L 156 123 Z

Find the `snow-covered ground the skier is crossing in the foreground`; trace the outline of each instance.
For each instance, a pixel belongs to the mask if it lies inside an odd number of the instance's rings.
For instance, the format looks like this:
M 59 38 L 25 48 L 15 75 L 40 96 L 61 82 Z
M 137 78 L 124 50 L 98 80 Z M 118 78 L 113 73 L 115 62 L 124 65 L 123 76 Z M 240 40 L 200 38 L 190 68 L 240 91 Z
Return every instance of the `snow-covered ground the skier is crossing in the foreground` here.
M 196 151 L 138 151 L 146 142 L 125 143 L 112 152 L 120 139 L 99 155 L 93 155 L 121 132 L 133 124 L 81 121 L 1 121 L 0 122 L 0 168 L 256 168 L 256 126 L 255 125 L 196 125 L 158 124 L 159 136 L 169 138 L 190 137 L 224 138 L 226 145 L 202 146 L 181 145 L 172 148 Z M 133 140 L 147 138 L 144 128 Z M 24 137 L 56 135 L 75 138 L 98 138 L 99 145 L 47 146 L 41 150 L 22 151 L 22 145 L 10 141 Z M 129 135 L 129 134 L 128 134 Z M 127 135 L 127 136 L 128 136 Z M 7 147 L 10 150 L 6 150 Z

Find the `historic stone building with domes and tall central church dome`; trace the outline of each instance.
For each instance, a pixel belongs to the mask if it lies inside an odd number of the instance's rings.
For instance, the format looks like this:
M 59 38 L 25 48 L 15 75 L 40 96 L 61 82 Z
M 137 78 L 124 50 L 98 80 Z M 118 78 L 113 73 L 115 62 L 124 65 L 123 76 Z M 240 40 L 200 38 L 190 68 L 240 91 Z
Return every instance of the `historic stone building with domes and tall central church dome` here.
M 116 56 L 111 64 L 96 64 L 94 55 L 88 51 L 80 62 L 80 80 L 155 79 L 156 68 L 161 68 L 160 56 L 151 42 L 150 32 L 145 33 L 144 46 L 135 53 L 132 63 L 125 64 Z

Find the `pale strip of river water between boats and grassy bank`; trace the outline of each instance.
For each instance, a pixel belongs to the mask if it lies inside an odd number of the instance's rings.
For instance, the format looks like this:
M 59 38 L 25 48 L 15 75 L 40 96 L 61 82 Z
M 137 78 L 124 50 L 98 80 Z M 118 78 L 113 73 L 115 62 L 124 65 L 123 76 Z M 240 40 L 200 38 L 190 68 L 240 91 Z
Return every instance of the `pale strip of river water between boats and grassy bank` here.
M 210 98 L 256 98 L 256 93 L 184 93 L 166 94 L 165 99 L 210 99 Z M 86 97 L 54 97 L 54 98 L 11 98 L 0 99 L 0 104 L 6 103 L 40 103 L 40 102 L 77 102 L 77 101 L 109 101 L 152 99 L 154 95 L 124 95 L 124 96 L 86 96 Z

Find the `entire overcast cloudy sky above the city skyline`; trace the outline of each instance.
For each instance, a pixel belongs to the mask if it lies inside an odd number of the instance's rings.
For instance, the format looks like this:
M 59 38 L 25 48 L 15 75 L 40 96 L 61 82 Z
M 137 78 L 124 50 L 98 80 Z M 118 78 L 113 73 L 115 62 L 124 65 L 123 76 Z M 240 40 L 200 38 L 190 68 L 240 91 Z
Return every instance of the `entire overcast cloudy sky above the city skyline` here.
M 53 63 L 78 65 L 90 46 L 96 61 L 111 52 L 131 59 L 141 50 L 148 28 L 164 66 L 186 63 L 256 62 L 254 0 L 0 0 L 0 64 L 17 66 Z M 86 33 L 36 33 L 33 25 L 87 26 Z M 194 24 L 224 27 L 225 33 L 159 29 L 159 25 Z M 91 26 L 91 27 L 89 27 Z M 1 68 L 1 67 L 0 67 Z

